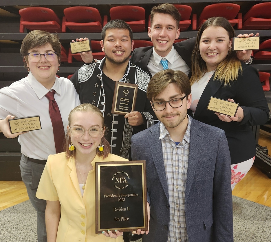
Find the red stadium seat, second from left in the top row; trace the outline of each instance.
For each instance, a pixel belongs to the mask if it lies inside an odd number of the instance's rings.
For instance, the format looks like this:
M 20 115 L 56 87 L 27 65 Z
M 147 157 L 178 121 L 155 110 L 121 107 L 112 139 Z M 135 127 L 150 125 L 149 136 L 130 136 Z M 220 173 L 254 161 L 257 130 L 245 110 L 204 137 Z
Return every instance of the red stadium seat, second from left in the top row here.
M 64 9 L 62 32 L 70 29 L 75 33 L 100 33 L 102 31 L 102 17 L 96 8 L 70 7 Z

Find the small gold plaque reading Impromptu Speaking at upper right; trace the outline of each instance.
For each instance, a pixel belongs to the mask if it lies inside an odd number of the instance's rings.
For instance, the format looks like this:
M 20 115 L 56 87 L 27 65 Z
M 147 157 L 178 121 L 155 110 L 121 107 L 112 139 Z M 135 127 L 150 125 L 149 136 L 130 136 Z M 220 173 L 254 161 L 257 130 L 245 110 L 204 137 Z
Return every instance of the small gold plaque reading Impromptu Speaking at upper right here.
M 260 46 L 260 36 L 248 38 L 232 38 L 233 51 L 258 50 Z

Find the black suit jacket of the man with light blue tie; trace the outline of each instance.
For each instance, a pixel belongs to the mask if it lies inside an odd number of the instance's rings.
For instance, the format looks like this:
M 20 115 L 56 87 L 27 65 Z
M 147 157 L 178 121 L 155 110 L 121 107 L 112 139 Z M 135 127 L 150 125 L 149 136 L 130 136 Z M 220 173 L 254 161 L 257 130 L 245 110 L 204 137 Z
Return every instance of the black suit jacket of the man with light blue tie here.
M 184 40 L 173 44 L 175 50 L 179 53 L 179 55 L 183 58 L 185 63 L 191 69 L 191 55 L 196 43 L 196 38 L 190 38 L 188 40 Z M 151 58 L 151 54 L 153 53 L 153 46 L 140 47 L 134 49 L 130 62 L 140 67 L 142 70 L 149 73 L 151 76 L 151 72 L 148 69 L 148 63 Z M 188 74 L 188 77 L 191 77 L 191 72 Z

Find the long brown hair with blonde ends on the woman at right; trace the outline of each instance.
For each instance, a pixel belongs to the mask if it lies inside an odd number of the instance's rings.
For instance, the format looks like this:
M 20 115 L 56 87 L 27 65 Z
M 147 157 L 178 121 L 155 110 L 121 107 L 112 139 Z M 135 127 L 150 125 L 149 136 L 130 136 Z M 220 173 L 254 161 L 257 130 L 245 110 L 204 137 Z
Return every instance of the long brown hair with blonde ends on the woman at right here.
M 199 81 L 202 75 L 204 75 L 207 71 L 206 63 L 202 59 L 199 52 L 199 42 L 203 31 L 210 26 L 224 28 L 228 32 L 230 40 L 233 37 L 236 37 L 234 29 L 232 28 L 231 24 L 226 18 L 223 17 L 208 18 L 202 24 L 197 33 L 196 45 L 192 53 L 192 66 L 191 66 L 192 76 L 190 78 L 191 85 Z M 224 83 L 224 86 L 230 85 L 232 81 L 237 80 L 239 72 L 242 73 L 241 62 L 237 59 L 236 51 L 232 51 L 232 49 L 230 48 L 226 58 L 222 62 L 220 62 L 219 65 L 217 66 L 215 70 L 214 79 Z

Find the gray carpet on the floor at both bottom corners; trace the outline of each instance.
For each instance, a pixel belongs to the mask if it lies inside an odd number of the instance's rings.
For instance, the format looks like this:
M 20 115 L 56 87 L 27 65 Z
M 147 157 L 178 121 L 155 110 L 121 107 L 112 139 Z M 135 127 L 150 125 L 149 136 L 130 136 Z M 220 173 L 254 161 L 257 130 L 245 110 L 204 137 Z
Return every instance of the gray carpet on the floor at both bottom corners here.
M 234 241 L 270 242 L 271 208 L 243 198 L 232 198 Z M 29 200 L 0 211 L 0 241 L 37 241 L 36 211 Z

